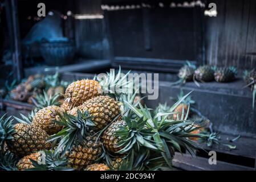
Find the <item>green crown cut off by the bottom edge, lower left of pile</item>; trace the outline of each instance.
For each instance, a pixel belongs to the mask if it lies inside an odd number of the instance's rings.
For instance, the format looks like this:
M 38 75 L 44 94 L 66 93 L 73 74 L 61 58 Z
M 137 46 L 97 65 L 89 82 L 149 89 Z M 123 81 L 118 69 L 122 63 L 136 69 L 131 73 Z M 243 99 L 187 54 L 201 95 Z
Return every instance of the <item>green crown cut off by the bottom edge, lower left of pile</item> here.
M 65 156 L 60 155 L 59 152 L 40 151 L 40 159 L 42 161 L 37 162 L 30 159 L 34 168 L 27 169 L 27 171 L 73 171 L 73 168 L 67 167 L 68 159 Z

